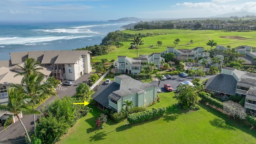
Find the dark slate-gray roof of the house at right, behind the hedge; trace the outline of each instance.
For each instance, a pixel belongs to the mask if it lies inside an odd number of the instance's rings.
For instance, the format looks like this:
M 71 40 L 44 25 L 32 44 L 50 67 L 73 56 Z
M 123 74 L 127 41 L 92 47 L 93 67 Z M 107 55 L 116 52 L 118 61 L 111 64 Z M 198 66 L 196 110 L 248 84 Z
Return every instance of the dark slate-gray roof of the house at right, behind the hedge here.
M 222 92 L 225 94 L 236 94 L 236 79 L 228 74 L 218 74 L 209 78 L 205 85 L 207 90 Z

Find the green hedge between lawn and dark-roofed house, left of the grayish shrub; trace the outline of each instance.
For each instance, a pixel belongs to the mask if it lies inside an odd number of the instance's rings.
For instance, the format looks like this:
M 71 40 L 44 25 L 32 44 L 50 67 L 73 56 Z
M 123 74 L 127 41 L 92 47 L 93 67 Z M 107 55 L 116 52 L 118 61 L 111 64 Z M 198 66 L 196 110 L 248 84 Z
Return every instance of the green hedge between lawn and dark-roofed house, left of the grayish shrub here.
M 223 110 L 223 103 L 212 98 L 210 94 L 206 93 L 206 92 L 200 92 L 199 93 L 199 97 L 202 98 L 202 100 L 205 102 L 205 103 L 208 103 L 212 106 L 216 106 L 217 108 L 220 108 Z

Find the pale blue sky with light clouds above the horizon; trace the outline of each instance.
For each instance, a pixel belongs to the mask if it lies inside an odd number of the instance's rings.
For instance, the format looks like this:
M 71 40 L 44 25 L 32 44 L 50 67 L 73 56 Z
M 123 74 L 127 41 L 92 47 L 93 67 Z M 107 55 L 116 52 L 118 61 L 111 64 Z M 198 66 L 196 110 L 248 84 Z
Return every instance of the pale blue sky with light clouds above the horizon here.
M 0 0 L 0 21 L 205 18 L 255 12 L 255 0 Z

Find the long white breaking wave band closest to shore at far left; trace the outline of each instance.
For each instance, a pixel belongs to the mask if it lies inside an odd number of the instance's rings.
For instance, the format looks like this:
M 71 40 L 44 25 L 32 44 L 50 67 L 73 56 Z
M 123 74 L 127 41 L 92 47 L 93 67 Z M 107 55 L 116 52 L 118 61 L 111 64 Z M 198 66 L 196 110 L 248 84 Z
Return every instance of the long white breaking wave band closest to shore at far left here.
M 15 38 L 2 38 L 0 44 L 36 44 L 42 42 L 51 42 L 54 40 L 70 40 L 75 38 L 85 38 L 92 36 L 52 36 L 52 37 L 15 37 Z

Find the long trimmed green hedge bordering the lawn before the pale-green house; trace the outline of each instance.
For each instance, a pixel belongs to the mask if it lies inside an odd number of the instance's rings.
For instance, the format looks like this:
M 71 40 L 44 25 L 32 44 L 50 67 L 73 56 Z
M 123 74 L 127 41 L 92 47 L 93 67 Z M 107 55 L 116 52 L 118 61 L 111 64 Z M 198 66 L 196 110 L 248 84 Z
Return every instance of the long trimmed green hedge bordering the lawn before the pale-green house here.
M 161 108 L 152 108 L 152 110 L 146 110 L 144 112 L 129 114 L 129 117 L 127 120 L 130 124 L 137 124 L 140 122 L 151 120 L 153 118 L 159 118 L 163 116 L 165 111 L 166 111 L 166 108 L 164 106 Z

